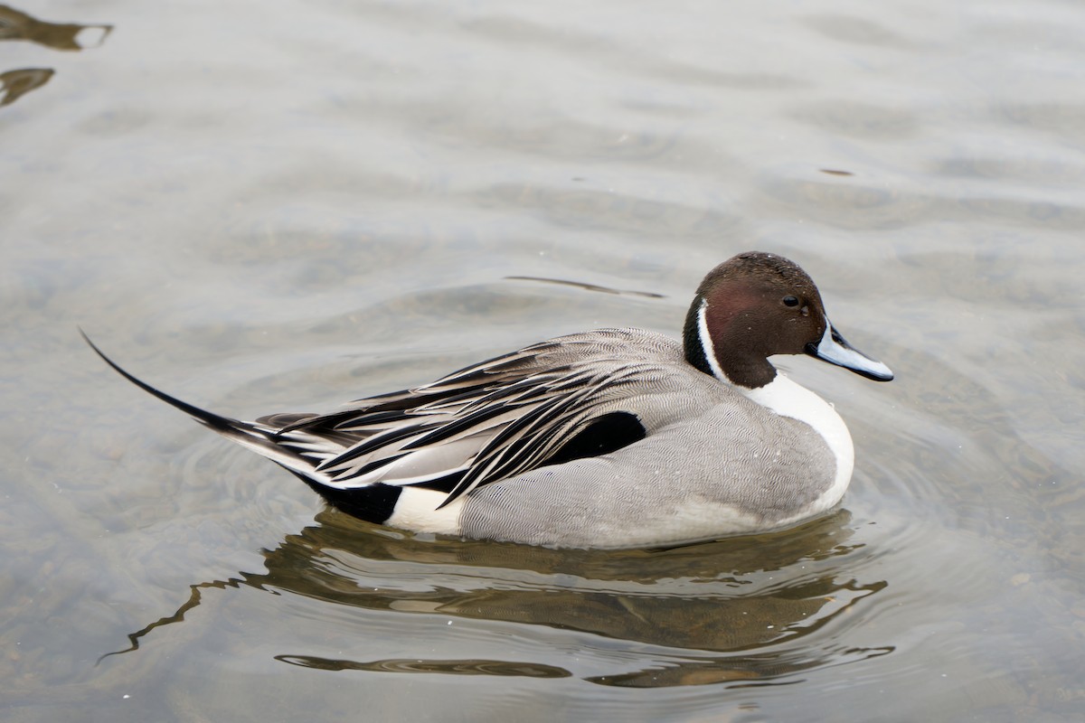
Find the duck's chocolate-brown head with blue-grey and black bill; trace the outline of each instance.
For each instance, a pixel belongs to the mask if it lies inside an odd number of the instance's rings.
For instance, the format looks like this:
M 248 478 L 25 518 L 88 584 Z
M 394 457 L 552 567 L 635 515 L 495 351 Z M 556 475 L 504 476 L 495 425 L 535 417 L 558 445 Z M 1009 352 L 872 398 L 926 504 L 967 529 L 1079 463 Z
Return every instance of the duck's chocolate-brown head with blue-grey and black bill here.
M 684 336 L 690 364 L 749 389 L 776 378 L 773 354 L 805 353 L 878 382 L 893 378 L 832 327 L 806 272 L 775 254 L 739 254 L 710 271 Z

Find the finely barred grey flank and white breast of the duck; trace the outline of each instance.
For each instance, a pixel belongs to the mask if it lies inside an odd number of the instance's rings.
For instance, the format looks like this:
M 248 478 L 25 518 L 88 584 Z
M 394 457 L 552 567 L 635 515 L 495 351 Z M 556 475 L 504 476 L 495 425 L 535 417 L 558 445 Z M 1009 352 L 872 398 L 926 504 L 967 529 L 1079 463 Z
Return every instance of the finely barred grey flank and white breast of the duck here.
M 676 341 L 638 330 L 596 334 L 659 352 L 644 370 L 646 391 L 622 400 L 642 410 L 643 439 L 486 485 L 454 503 L 461 506 L 452 529 L 422 528 L 419 518 L 399 526 L 544 545 L 637 546 L 784 527 L 840 501 L 852 474 L 851 437 L 812 392 L 783 376 L 774 383 L 816 400 L 835 449 L 809 424 L 766 413 L 713 377 L 689 375 Z

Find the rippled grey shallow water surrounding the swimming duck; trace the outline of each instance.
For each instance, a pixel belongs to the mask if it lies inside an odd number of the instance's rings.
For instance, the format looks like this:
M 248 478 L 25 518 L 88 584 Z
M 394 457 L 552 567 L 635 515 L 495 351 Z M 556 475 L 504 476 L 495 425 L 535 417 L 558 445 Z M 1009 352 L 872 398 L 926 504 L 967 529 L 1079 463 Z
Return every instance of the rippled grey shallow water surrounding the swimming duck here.
M 1076 4 L 0 17 L 4 720 L 1085 714 Z M 317 411 L 677 334 L 749 248 L 897 380 L 784 360 L 852 428 L 843 508 L 671 551 L 323 511 L 76 332 L 226 414 Z

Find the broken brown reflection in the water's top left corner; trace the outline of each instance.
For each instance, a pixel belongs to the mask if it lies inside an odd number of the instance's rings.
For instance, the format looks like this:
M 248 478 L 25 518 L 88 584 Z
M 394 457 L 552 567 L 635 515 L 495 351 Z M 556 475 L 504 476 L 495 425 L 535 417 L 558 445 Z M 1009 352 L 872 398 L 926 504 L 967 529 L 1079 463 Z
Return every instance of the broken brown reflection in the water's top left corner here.
M 47 23 L 9 5 L 0 5 L 0 40 L 27 40 L 53 50 L 87 50 L 105 42 L 112 25 Z M 53 68 L 18 68 L 0 73 L 0 106 L 10 105 L 41 88 Z

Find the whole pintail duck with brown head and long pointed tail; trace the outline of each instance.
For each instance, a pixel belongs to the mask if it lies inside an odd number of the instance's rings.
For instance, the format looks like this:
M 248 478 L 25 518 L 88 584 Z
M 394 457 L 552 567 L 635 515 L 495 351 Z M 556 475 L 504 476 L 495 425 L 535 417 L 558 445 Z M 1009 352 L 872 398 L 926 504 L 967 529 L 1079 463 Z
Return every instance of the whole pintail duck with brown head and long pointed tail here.
M 809 275 L 749 251 L 705 275 L 681 341 L 559 336 L 331 412 L 242 422 L 113 370 L 301 478 L 340 511 L 414 533 L 548 547 L 653 547 L 793 527 L 840 503 L 855 450 L 833 405 L 770 357 L 878 382 Z

